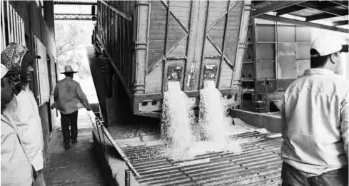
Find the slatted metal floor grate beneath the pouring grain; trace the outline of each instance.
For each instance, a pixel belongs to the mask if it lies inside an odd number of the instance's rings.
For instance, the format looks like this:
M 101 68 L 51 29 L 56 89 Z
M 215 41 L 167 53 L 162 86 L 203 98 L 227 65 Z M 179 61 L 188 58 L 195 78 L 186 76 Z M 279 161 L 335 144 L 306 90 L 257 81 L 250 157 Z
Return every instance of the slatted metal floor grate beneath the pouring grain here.
M 173 161 L 161 155 L 163 145 L 123 148 L 141 177 L 140 185 L 280 185 L 283 139 L 256 131 L 231 136 L 248 140 L 243 153 L 206 153 Z

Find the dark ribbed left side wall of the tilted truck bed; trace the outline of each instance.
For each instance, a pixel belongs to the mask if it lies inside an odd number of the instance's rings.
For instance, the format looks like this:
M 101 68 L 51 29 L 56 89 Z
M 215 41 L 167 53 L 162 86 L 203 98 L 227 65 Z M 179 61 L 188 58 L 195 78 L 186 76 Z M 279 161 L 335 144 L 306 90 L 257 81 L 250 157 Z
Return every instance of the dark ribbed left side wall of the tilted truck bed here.
M 131 1 L 106 1 L 118 11 L 128 16 L 133 14 L 134 3 Z M 106 48 L 111 63 L 118 69 L 121 81 L 126 88 L 131 88 L 133 80 L 133 21 L 126 19 L 100 1 L 98 6 L 98 36 Z

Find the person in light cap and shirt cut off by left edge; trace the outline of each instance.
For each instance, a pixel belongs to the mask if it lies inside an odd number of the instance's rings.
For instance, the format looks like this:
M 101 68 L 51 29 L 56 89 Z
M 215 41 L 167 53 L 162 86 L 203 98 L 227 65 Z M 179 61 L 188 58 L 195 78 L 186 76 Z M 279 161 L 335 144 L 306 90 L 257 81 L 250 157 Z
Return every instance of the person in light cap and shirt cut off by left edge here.
M 14 98 L 14 86 L 6 76 L 8 71 L 1 64 L 1 185 L 30 186 L 34 184 L 31 163 L 24 153 L 16 125 L 2 114 L 6 105 Z

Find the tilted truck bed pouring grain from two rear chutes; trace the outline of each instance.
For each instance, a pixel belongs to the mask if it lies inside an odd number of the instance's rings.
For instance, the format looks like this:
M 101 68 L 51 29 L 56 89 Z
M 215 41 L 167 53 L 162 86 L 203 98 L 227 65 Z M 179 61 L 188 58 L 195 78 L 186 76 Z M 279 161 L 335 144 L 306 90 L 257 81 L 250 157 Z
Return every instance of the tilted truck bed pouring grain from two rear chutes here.
M 241 100 L 251 1 L 98 1 L 94 46 L 116 72 L 134 115 L 158 118 L 168 80 L 198 107 L 212 79 L 228 107 Z

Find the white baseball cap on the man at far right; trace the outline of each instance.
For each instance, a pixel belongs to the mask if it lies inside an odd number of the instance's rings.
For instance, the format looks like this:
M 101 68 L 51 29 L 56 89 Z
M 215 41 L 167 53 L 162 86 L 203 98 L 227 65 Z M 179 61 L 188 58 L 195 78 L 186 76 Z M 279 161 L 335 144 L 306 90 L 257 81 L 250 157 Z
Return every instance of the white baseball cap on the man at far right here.
M 317 53 L 310 53 L 311 57 L 327 56 L 336 52 L 348 52 L 348 44 L 343 45 L 343 40 L 335 36 L 320 36 L 315 38 L 311 49 Z

